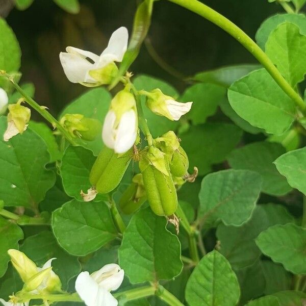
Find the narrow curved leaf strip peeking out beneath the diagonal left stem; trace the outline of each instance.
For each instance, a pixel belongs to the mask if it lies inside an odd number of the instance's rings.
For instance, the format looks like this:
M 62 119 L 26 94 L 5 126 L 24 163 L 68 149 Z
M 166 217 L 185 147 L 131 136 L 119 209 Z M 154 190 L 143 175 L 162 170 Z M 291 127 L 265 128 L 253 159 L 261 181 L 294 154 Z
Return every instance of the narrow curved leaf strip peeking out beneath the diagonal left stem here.
M 55 140 L 53 132 L 49 127 L 43 122 L 30 121 L 30 129 L 38 134 L 45 142 L 48 152 L 50 154 L 50 163 L 58 161 L 61 159 L 62 155 L 59 150 L 59 146 Z

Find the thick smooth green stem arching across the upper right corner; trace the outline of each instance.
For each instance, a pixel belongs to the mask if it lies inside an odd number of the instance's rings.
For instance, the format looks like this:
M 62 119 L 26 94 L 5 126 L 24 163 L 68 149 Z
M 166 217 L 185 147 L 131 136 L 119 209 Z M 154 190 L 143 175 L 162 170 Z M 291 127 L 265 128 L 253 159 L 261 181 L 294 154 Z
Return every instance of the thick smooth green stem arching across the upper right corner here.
M 274 66 L 273 62 L 263 52 L 263 50 L 235 23 L 225 18 L 215 10 L 206 6 L 197 0 L 168 0 L 177 5 L 180 5 L 218 25 L 225 32 L 238 40 L 270 73 L 275 82 L 283 89 L 283 91 L 294 101 L 299 109 L 305 113 L 306 104 L 300 95 L 289 85 L 283 78 L 282 74 Z

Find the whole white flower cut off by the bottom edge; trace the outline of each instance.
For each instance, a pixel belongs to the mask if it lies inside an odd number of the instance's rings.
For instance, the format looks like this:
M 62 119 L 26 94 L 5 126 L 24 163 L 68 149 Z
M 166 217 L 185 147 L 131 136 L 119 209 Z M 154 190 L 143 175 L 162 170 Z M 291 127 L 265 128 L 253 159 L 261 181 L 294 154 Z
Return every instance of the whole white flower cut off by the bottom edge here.
M 122 284 L 124 270 L 117 264 L 108 264 L 91 275 L 81 272 L 75 281 L 75 290 L 87 306 L 117 306 L 110 291 Z

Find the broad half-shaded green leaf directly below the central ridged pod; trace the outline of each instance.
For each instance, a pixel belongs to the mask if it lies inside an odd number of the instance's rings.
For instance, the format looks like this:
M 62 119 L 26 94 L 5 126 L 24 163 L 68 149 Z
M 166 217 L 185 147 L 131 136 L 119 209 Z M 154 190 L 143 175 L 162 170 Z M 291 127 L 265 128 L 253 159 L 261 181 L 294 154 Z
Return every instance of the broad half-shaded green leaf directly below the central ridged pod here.
M 167 220 L 150 208 L 138 211 L 123 234 L 119 264 L 132 284 L 179 275 L 183 264 L 179 239 L 166 230 Z

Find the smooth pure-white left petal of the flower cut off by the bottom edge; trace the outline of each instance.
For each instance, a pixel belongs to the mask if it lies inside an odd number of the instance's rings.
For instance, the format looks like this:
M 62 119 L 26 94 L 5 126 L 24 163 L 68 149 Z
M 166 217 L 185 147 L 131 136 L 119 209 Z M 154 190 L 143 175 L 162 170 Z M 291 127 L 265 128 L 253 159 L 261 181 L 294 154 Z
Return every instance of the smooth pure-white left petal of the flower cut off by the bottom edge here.
M 75 281 L 75 290 L 87 306 L 117 306 L 118 301 L 110 292 L 99 287 L 89 273 L 81 272 Z

